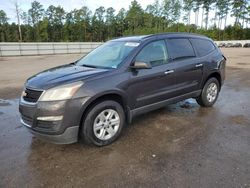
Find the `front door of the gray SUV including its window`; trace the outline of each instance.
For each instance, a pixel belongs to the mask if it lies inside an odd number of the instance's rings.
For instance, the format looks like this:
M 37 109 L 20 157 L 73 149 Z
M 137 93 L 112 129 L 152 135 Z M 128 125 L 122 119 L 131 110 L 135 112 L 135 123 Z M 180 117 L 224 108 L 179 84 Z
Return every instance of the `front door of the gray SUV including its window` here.
M 135 61 L 148 62 L 152 68 L 131 71 L 128 93 L 132 96 L 129 99 L 132 109 L 175 96 L 174 64 L 168 62 L 164 40 L 147 44 L 136 56 Z

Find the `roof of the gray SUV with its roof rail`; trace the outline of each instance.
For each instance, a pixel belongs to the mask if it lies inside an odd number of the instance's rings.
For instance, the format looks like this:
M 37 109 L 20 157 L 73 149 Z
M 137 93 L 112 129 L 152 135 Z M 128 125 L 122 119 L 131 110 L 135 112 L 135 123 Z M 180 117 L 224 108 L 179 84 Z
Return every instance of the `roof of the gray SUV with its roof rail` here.
M 133 41 L 133 42 L 141 42 L 146 39 L 163 37 L 163 38 L 174 38 L 174 37 L 192 37 L 192 38 L 205 38 L 209 39 L 204 35 L 199 35 L 195 33 L 184 33 L 184 32 L 174 32 L 174 33 L 158 33 L 158 34 L 150 34 L 150 35 L 137 35 L 137 36 L 128 36 L 121 37 L 117 39 L 113 39 L 112 41 Z

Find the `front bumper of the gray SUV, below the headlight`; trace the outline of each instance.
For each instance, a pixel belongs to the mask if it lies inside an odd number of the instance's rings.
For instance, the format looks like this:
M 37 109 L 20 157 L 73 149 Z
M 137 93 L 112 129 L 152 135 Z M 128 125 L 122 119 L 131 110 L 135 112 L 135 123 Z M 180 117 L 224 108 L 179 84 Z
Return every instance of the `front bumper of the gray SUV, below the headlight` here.
M 19 103 L 21 123 L 36 137 L 56 144 L 77 142 L 82 107 L 88 98 Z

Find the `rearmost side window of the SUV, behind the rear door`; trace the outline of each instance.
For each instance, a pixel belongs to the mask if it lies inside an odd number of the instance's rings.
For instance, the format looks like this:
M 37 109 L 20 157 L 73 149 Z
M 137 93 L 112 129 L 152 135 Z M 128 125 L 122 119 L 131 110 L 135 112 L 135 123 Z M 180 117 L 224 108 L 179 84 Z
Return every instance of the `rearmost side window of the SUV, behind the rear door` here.
M 215 49 L 213 43 L 204 39 L 191 39 L 191 42 L 199 56 L 205 56 Z

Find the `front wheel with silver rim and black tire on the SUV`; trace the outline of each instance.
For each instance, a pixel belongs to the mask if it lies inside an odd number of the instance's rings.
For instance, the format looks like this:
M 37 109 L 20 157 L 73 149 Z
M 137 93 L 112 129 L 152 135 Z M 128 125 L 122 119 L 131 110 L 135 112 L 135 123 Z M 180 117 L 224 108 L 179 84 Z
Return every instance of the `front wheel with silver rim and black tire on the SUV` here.
M 115 101 L 102 101 L 87 111 L 82 123 L 81 138 L 88 144 L 105 146 L 120 136 L 124 124 L 122 106 Z

